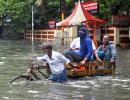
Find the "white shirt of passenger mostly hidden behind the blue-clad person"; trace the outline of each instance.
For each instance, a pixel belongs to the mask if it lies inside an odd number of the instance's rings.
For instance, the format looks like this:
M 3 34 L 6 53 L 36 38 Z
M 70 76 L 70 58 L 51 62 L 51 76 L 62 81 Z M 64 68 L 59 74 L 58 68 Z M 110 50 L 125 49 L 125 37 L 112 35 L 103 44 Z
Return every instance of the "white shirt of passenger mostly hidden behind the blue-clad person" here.
M 80 48 L 80 37 L 76 37 L 70 44 L 71 48 Z M 94 42 L 92 41 L 93 50 L 96 49 Z

